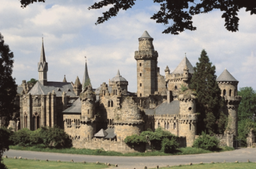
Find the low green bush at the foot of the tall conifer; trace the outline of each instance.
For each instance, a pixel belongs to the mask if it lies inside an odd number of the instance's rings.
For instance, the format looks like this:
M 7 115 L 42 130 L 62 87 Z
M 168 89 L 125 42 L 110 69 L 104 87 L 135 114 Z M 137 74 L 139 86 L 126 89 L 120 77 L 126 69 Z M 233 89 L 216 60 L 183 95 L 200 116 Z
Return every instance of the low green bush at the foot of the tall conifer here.
M 202 132 L 202 135 L 200 135 L 198 139 L 195 139 L 193 147 L 213 151 L 219 148 L 219 143 L 219 139 L 217 139 L 215 136 L 206 135 L 206 133 Z

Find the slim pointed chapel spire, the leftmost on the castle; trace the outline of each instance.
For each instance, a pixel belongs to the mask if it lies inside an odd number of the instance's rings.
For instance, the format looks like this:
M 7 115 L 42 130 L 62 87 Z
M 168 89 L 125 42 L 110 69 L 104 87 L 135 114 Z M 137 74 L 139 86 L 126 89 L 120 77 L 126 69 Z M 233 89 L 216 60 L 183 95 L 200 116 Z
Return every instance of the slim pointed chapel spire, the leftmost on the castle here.
M 45 49 L 43 47 L 43 38 L 42 38 L 40 62 L 38 64 L 38 71 L 39 71 L 39 82 L 41 82 L 43 86 L 47 86 L 48 63 L 45 60 Z

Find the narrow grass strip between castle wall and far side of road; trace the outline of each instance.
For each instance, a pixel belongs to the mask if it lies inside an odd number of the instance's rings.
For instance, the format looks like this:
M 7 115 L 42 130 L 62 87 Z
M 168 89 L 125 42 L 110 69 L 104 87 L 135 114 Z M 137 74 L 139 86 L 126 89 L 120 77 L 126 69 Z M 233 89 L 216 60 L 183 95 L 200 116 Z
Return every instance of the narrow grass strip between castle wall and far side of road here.
M 23 147 L 23 146 L 10 146 L 10 149 L 13 150 L 31 150 L 31 151 L 41 151 L 41 152 L 49 152 L 49 153 L 67 153 L 67 154 L 76 154 L 76 155 L 107 155 L 107 156 L 164 156 L 164 155 L 193 155 L 193 154 L 200 154 L 200 153 L 214 153 L 210 150 L 203 150 L 202 148 L 192 148 L 192 147 L 186 147 L 186 148 L 178 148 L 178 150 L 175 153 L 163 153 L 160 151 L 153 151 L 153 152 L 147 152 L 147 153 L 118 153 L 115 151 L 105 151 L 102 149 L 98 150 L 91 150 L 91 149 L 85 149 L 85 148 L 45 148 L 45 147 L 39 147 L 39 146 L 29 146 L 29 147 Z M 234 150 L 234 148 L 230 147 L 222 147 L 217 152 L 222 151 L 228 151 L 228 150 Z

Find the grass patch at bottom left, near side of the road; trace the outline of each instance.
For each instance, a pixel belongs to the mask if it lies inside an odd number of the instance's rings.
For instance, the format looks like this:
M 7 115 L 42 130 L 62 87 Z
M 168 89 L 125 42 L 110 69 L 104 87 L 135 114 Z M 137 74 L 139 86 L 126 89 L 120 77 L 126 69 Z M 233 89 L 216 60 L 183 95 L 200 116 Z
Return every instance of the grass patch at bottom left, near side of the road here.
M 57 161 L 34 161 L 31 159 L 3 159 L 3 164 L 6 164 L 8 169 L 98 169 L 98 168 L 108 168 L 105 164 L 82 164 L 82 163 L 71 163 L 71 162 L 57 162 Z

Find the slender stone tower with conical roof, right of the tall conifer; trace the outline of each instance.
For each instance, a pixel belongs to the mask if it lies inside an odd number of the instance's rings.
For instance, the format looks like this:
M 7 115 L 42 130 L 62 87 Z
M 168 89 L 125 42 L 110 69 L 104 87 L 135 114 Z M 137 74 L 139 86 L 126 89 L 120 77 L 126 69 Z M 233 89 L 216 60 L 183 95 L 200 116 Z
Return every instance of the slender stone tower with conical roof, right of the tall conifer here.
M 238 82 L 227 69 L 224 69 L 217 78 L 217 84 L 219 84 L 221 95 L 226 103 L 223 111 L 228 116 L 228 132 L 235 136 L 237 136 L 237 109 L 242 99 L 237 95 Z

